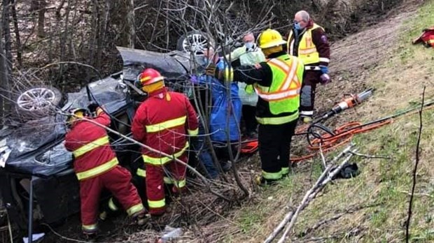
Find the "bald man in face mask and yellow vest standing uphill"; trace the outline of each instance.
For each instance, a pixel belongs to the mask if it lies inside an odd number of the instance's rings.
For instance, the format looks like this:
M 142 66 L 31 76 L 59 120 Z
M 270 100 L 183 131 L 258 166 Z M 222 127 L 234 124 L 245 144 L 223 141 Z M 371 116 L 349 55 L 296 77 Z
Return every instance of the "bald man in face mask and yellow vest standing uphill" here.
M 316 84 L 330 82 L 330 45 L 323 27 L 315 24 L 309 13 L 301 10 L 295 14 L 286 48 L 288 54 L 298 57 L 304 64 L 300 116 L 304 122 L 310 122 L 314 115 Z

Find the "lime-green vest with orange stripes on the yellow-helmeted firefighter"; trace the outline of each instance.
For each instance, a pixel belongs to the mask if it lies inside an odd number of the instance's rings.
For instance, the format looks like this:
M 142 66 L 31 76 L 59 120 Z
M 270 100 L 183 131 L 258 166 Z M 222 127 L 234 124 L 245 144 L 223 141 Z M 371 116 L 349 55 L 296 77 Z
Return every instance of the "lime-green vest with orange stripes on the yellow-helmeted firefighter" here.
M 262 100 L 269 103 L 273 115 L 290 112 L 285 117 L 256 117 L 260 124 L 284 124 L 298 118 L 300 107 L 300 89 L 304 66 L 297 57 L 284 54 L 269 59 L 267 64 L 272 69 L 273 80 L 270 87 L 255 83 L 255 91 Z

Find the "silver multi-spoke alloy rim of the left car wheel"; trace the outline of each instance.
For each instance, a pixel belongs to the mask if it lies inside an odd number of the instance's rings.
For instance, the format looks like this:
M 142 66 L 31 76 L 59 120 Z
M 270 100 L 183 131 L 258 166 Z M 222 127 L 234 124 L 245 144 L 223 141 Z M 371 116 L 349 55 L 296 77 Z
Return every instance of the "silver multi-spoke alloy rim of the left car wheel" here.
M 56 99 L 55 92 L 47 88 L 29 89 L 17 99 L 17 105 L 22 110 L 36 111 L 53 105 Z

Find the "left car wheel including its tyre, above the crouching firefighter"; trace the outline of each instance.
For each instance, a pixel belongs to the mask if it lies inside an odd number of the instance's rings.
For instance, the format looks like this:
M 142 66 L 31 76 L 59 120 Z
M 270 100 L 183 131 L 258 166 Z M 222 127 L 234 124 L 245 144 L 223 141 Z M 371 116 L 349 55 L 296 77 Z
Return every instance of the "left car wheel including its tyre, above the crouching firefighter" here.
M 16 110 L 20 117 L 38 119 L 55 112 L 62 102 L 62 93 L 55 87 L 31 87 L 16 99 Z

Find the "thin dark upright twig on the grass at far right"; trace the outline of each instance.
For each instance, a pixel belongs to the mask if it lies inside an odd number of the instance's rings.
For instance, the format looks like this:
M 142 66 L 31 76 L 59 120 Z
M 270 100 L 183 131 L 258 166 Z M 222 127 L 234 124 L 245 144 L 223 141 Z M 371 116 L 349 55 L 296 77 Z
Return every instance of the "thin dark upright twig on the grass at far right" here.
M 412 185 L 412 194 L 410 195 L 410 201 L 408 205 L 408 217 L 407 222 L 405 223 L 405 242 L 409 242 L 409 228 L 410 221 L 412 220 L 412 207 L 413 207 L 413 198 L 414 198 L 414 189 L 416 189 L 416 173 L 417 173 L 417 165 L 419 165 L 419 146 L 421 145 L 421 135 L 422 135 L 422 111 L 423 111 L 423 103 L 425 103 L 425 89 L 423 87 L 422 93 L 422 104 L 421 109 L 419 110 L 419 134 L 417 136 L 417 145 L 416 145 L 416 163 L 414 164 L 413 170 L 413 185 Z

